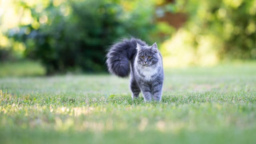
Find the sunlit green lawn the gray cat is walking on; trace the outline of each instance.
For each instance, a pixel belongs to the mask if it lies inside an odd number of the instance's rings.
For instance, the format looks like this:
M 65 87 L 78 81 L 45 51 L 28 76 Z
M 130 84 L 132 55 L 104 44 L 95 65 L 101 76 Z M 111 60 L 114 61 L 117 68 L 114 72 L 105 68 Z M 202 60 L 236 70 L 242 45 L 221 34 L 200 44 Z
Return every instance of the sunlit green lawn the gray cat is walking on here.
M 256 62 L 165 69 L 162 102 L 130 95 L 108 74 L 1 76 L 0 143 L 256 141 Z

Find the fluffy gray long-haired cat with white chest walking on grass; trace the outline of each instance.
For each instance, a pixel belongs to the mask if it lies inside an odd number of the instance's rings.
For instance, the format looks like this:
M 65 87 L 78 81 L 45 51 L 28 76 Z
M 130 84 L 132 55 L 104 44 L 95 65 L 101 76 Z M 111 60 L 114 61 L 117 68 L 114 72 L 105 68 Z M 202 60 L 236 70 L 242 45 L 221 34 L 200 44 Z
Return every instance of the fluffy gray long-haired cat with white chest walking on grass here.
M 109 72 L 117 76 L 127 77 L 130 73 L 132 98 L 138 98 L 142 91 L 145 101 L 161 101 L 164 70 L 156 43 L 148 46 L 140 39 L 124 39 L 110 47 L 107 65 Z

